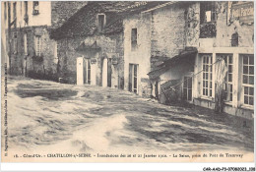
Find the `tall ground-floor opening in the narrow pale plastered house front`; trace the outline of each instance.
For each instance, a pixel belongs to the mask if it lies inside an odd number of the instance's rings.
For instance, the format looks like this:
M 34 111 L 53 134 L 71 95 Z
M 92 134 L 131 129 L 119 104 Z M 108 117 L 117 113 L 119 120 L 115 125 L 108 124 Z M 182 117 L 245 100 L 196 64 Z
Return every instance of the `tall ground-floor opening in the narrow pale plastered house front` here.
M 138 69 L 139 65 L 129 64 L 129 91 L 138 93 Z

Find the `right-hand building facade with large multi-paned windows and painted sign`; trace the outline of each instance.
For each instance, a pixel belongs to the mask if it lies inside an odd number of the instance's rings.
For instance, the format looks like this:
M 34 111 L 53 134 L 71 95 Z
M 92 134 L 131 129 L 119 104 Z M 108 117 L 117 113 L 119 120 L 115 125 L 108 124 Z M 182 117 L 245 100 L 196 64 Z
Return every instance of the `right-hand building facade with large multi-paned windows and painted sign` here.
M 253 8 L 253 2 L 205 2 L 191 7 L 191 10 L 200 9 L 199 26 L 195 28 L 198 33 L 194 34 L 197 40 L 187 42 L 198 48 L 194 73 L 203 70 L 192 79 L 196 105 L 216 108 L 218 85 L 222 80 L 218 60 L 223 60 L 226 68 L 222 83 L 224 112 L 253 118 Z

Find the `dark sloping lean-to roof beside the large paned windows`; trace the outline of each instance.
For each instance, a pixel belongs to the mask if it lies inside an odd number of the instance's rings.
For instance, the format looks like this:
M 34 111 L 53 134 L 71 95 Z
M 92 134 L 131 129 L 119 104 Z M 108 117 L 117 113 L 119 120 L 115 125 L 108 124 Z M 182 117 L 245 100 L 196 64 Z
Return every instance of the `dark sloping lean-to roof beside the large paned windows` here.
M 196 47 L 186 47 L 178 55 L 163 61 L 163 63 L 156 67 L 155 70 L 151 71 L 148 74 L 150 79 L 154 80 L 160 77 L 161 74 L 180 63 L 191 63 L 191 65 L 194 65 L 197 52 Z

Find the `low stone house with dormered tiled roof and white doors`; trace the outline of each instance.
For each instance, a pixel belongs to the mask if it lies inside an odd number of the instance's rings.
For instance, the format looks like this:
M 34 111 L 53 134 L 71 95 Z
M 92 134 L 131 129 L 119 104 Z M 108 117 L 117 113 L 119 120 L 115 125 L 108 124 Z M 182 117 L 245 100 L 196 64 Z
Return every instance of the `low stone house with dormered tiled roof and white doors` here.
M 124 88 L 123 18 L 159 2 L 89 2 L 51 37 L 66 83 Z

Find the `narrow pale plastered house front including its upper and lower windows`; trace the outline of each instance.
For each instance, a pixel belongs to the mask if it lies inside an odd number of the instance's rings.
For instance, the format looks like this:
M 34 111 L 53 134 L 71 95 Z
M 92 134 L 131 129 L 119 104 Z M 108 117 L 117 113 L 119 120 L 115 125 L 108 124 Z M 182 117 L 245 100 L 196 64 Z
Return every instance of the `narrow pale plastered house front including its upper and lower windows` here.
M 133 15 L 124 19 L 125 89 L 139 95 L 150 94 L 151 16 Z

